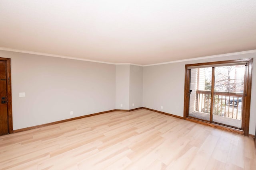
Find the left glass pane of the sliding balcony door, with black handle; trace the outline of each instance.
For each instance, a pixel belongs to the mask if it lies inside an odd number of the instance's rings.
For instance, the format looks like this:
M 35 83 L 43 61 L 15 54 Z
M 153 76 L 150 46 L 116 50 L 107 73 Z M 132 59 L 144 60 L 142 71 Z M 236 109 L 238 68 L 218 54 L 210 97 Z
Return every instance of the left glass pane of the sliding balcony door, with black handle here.
M 189 116 L 210 121 L 212 67 L 192 68 Z

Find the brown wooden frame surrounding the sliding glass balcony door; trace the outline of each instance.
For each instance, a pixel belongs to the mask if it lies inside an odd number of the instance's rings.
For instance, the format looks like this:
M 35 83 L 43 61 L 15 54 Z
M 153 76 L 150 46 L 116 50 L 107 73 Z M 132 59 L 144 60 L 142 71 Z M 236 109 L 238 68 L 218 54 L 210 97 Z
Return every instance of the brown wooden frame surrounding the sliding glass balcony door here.
M 251 88 L 252 88 L 252 61 L 253 59 L 238 59 L 238 60 L 229 60 L 229 61 L 217 61 L 217 62 L 209 62 L 209 63 L 197 63 L 197 64 L 186 64 L 185 65 L 185 88 L 184 88 L 184 119 L 194 121 L 197 123 L 202 123 L 205 125 L 210 125 L 212 127 L 216 127 L 219 129 L 224 129 L 227 131 L 232 131 L 239 134 L 244 134 L 246 136 L 249 135 L 249 121 L 250 121 L 250 104 L 251 104 Z M 209 123 L 203 122 L 201 120 L 191 119 L 188 117 L 189 113 L 189 99 L 190 99 L 190 69 L 189 66 L 207 66 L 207 65 L 214 65 L 214 64 L 229 64 L 229 63 L 241 63 L 246 62 L 246 74 L 245 74 L 245 81 L 244 81 L 244 104 L 242 106 L 242 131 L 239 129 L 232 129 L 230 127 L 224 127 L 222 125 L 218 125 L 216 123 Z M 213 68 L 214 69 L 214 68 Z M 214 82 L 212 75 L 212 82 Z M 213 92 L 212 92 L 213 93 Z M 213 97 L 213 95 L 212 95 Z

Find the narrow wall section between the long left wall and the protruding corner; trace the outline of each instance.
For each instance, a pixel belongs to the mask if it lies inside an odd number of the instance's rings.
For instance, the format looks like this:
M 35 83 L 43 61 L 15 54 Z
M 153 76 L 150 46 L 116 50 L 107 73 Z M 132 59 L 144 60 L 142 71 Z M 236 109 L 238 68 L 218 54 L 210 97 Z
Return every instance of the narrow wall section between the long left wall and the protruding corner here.
M 130 65 L 116 65 L 116 109 L 129 109 L 129 89 Z

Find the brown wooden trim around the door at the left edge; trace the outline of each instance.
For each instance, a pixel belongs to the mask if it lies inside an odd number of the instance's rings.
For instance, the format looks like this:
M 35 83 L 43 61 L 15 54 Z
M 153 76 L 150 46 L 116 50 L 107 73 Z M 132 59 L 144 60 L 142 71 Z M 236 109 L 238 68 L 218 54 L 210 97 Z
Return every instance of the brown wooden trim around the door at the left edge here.
M 0 61 L 6 61 L 7 77 L 7 108 L 8 108 L 8 133 L 13 133 L 12 125 L 12 76 L 11 76 L 11 59 L 0 58 Z

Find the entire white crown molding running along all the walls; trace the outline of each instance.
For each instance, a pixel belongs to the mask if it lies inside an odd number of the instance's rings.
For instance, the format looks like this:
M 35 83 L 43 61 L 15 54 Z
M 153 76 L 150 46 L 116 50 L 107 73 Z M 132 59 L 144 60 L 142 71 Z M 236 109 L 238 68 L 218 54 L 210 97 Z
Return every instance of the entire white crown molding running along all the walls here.
M 89 62 L 94 62 L 94 63 L 104 63 L 104 64 L 114 64 L 114 65 L 134 65 L 134 66 L 155 66 L 155 65 L 170 64 L 170 63 L 180 63 L 180 62 L 185 62 L 185 61 L 194 61 L 194 60 L 211 59 L 211 58 L 225 57 L 225 56 L 232 56 L 232 55 L 256 53 L 256 49 L 255 49 L 255 50 L 240 51 L 240 52 L 235 52 L 235 53 L 226 53 L 226 54 L 220 54 L 220 55 L 210 55 L 210 56 L 205 56 L 205 57 L 196 57 L 196 58 L 192 58 L 192 59 L 183 59 L 183 60 L 169 61 L 169 62 L 164 62 L 164 63 L 140 65 L 140 64 L 133 64 L 133 63 L 110 63 L 110 62 L 104 62 L 104 61 L 89 60 L 89 59 L 82 59 L 82 58 L 76 58 L 76 57 L 69 57 L 69 56 L 64 56 L 64 55 L 55 55 L 55 54 L 49 54 L 49 53 L 38 53 L 38 52 L 34 52 L 34 51 L 10 49 L 10 48 L 5 48 L 5 47 L 0 47 L 0 50 L 12 51 L 12 52 L 18 52 L 18 53 L 35 54 L 35 55 L 44 55 L 44 56 L 58 57 L 58 58 L 64 58 L 64 59 L 89 61 Z

